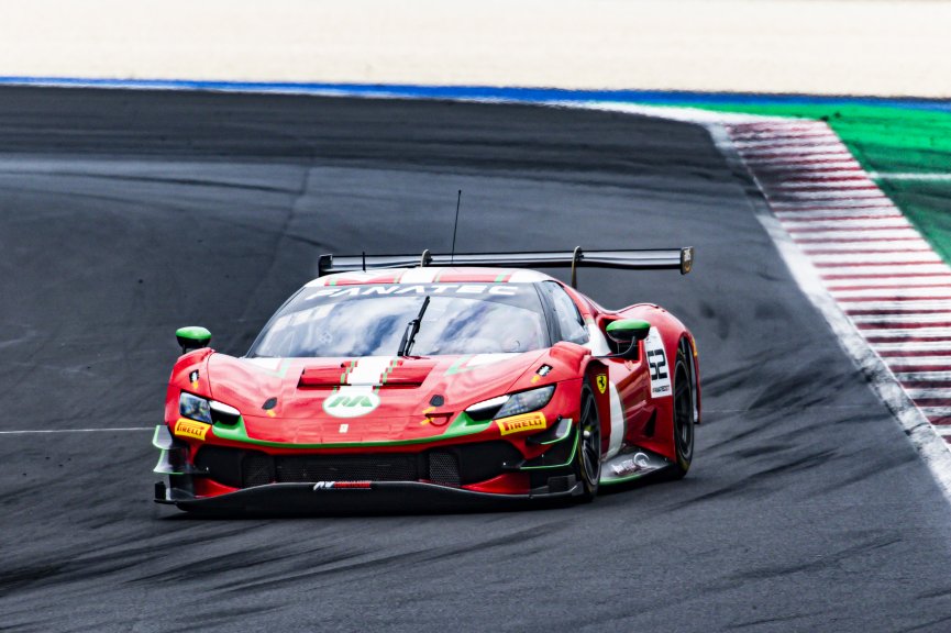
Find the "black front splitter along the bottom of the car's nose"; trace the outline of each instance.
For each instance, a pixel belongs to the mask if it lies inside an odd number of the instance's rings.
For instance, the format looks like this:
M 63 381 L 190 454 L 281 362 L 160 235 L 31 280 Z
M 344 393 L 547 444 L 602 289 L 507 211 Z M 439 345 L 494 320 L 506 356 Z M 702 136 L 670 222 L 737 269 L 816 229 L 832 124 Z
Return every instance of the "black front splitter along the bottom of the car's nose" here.
M 528 495 L 476 492 L 419 481 L 319 481 L 268 484 L 214 497 L 195 497 L 187 490 L 155 485 L 155 501 L 195 512 L 248 513 L 367 513 L 432 512 L 458 508 L 497 507 L 530 501 L 570 499 L 582 492 L 574 475 L 553 478 Z M 343 486 L 340 486 L 343 484 Z M 338 486 L 334 486 L 338 485 Z

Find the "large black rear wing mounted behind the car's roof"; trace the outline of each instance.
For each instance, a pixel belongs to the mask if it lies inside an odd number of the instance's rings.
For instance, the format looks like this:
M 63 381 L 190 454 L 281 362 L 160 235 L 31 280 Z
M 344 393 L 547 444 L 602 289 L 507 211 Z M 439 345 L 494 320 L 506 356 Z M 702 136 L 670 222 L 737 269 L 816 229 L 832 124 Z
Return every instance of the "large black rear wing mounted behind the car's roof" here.
M 694 247 L 650 251 L 555 251 L 548 253 L 456 253 L 421 255 L 321 255 L 318 275 L 410 268 L 414 266 L 505 266 L 512 268 L 572 268 L 572 287 L 577 284 L 578 267 L 623 268 L 627 270 L 679 270 L 686 275 L 694 266 Z

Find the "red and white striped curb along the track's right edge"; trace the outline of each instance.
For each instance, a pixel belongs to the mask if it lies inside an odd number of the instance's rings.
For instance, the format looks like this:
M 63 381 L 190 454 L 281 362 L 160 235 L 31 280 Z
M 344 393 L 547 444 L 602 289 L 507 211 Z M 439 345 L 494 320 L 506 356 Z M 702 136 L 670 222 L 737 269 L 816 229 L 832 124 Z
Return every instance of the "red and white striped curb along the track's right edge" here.
M 705 124 L 753 179 L 758 218 L 797 284 L 951 501 L 951 267 L 825 122 Z

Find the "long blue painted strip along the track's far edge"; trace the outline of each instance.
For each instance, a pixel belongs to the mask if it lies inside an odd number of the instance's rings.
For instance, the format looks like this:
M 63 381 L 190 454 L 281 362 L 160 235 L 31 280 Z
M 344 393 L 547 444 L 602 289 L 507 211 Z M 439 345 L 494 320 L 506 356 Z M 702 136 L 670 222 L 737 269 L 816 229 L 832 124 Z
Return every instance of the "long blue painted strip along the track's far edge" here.
M 84 79 L 80 77 L 0 77 L 0 86 L 53 86 L 140 90 L 208 90 L 225 92 L 283 92 L 416 99 L 475 99 L 513 102 L 608 101 L 655 106 L 891 106 L 951 111 L 951 100 L 893 97 L 822 97 L 807 95 L 750 95 L 660 90 L 567 90 L 493 86 L 413 86 L 398 84 L 310 84 L 297 81 L 203 81 L 188 79 Z

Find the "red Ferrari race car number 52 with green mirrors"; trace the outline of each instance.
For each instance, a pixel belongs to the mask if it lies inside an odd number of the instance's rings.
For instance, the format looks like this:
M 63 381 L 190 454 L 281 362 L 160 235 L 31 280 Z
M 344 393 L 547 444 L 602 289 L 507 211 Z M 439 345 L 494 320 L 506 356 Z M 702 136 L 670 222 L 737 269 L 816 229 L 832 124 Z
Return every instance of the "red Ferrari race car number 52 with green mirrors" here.
M 690 270 L 693 248 L 336 257 L 246 356 L 177 332 L 155 500 L 184 510 L 574 498 L 690 467 L 696 345 L 578 266 Z M 565 285 L 534 268 L 572 267 Z

